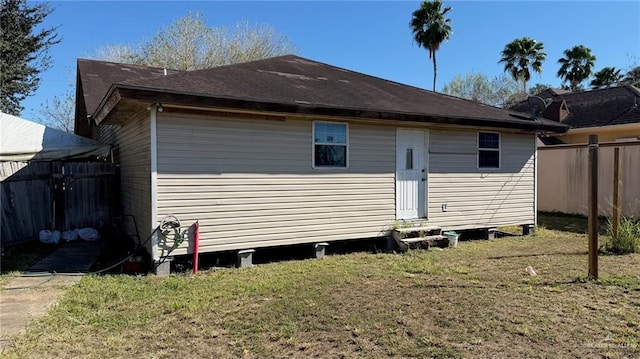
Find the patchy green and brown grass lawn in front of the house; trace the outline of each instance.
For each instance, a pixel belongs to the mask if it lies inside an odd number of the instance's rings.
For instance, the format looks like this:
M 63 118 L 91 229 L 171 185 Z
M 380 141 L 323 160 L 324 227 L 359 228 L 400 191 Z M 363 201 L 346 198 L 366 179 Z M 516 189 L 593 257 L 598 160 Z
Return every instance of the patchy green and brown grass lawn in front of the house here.
M 88 276 L 2 356 L 640 357 L 640 255 L 601 256 L 600 280 L 586 281 L 579 232 L 197 276 Z

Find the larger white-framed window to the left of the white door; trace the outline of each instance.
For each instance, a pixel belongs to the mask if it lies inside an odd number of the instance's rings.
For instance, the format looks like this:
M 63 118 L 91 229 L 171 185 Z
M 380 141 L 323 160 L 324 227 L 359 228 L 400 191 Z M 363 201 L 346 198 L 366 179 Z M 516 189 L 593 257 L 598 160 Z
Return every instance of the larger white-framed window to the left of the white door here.
M 313 123 L 313 167 L 347 167 L 346 123 Z

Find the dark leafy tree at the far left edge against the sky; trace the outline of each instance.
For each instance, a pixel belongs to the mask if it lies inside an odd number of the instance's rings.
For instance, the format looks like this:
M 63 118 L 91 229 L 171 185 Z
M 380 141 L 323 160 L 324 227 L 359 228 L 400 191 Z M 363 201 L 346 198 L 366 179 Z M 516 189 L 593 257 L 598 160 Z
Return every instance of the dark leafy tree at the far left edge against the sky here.
M 46 3 L 0 0 L 0 111 L 20 115 L 20 103 L 40 85 L 51 65 L 49 49 L 60 42 L 55 27 L 42 28 Z

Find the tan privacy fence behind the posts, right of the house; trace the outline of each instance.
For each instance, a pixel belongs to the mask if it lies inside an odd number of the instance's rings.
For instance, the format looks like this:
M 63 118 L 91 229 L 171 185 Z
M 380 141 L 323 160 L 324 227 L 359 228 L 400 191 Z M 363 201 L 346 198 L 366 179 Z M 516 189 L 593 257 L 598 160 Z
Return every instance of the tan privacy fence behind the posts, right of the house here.
M 622 215 L 640 218 L 640 142 L 599 145 L 598 215 L 612 215 L 615 147 L 621 157 Z M 538 210 L 587 214 L 588 155 L 587 144 L 538 149 Z

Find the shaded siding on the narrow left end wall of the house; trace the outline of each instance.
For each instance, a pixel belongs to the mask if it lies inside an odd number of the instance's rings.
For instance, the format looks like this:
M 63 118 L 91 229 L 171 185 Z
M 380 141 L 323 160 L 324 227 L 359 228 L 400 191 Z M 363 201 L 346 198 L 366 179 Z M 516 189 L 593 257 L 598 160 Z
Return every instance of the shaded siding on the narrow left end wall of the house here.
M 114 144 L 120 164 L 120 193 L 122 212 L 133 215 L 140 239 L 145 241 L 154 226 L 151 218 L 151 152 L 150 121 L 137 116 L 122 126 L 100 124 L 97 138 L 103 143 Z M 126 217 L 125 217 L 126 218 Z M 127 220 L 127 232 L 134 233 L 133 224 Z M 151 241 L 147 243 L 151 253 Z

